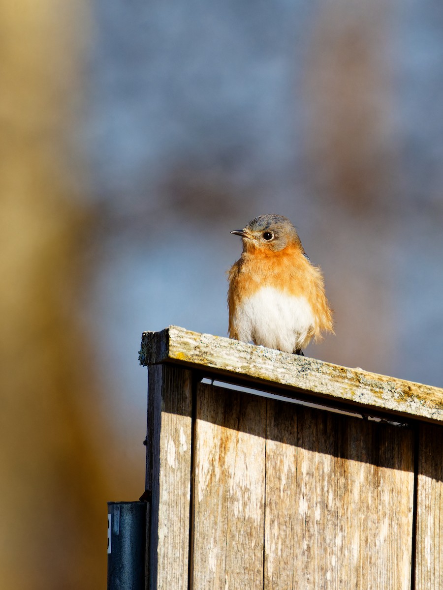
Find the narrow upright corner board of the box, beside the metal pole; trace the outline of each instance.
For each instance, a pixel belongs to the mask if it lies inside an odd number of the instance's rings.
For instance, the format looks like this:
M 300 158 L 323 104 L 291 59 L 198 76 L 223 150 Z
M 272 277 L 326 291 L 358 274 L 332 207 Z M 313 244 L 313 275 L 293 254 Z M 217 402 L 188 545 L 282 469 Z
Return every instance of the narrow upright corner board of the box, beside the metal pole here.
M 149 590 L 187 590 L 191 480 L 191 371 L 149 367 L 146 489 Z

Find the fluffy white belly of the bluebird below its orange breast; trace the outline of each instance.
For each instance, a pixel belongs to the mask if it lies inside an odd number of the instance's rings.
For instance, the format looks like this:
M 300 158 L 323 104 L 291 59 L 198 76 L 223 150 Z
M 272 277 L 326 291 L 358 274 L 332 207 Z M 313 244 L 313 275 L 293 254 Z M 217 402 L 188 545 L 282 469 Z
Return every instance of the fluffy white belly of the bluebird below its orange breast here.
M 305 297 L 284 294 L 273 287 L 262 287 L 244 299 L 233 317 L 239 340 L 285 352 L 307 346 L 313 325 L 314 314 Z

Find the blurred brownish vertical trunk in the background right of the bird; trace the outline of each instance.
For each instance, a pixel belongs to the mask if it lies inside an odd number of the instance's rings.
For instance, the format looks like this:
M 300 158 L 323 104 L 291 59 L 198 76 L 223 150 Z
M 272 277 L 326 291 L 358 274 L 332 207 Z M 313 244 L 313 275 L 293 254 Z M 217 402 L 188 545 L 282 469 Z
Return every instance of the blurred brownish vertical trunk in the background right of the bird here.
M 364 358 L 367 369 L 389 372 L 396 326 L 386 259 L 400 195 L 393 6 L 335 0 L 317 10 L 303 92 L 308 174 L 321 208 L 315 242 L 336 322 L 324 350 L 333 362 Z

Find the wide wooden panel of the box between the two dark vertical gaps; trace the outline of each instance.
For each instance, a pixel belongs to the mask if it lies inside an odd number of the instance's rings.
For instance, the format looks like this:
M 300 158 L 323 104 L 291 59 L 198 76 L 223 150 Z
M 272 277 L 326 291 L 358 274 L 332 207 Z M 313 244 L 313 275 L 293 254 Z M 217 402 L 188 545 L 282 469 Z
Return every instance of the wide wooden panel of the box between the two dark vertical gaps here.
M 408 428 L 199 385 L 193 590 L 409 590 L 413 447 Z

